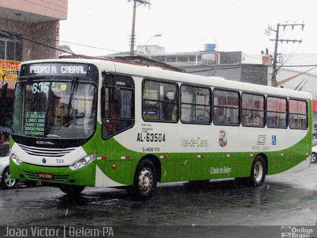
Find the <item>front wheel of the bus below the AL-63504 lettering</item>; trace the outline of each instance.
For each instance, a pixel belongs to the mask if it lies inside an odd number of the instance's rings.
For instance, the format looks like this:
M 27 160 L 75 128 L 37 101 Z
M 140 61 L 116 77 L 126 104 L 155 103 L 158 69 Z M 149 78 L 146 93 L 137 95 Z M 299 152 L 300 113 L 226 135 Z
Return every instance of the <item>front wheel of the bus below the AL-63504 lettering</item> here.
M 135 170 L 133 185 L 127 188 L 127 192 L 133 200 L 148 200 L 156 191 L 157 183 L 157 170 L 153 162 L 142 160 Z

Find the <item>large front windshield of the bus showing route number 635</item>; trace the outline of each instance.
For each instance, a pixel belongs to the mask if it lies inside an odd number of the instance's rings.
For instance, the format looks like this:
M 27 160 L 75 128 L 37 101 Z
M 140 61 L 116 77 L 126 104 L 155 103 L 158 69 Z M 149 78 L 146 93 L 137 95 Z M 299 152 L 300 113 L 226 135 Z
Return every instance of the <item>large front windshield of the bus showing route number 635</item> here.
M 94 133 L 94 84 L 80 82 L 78 78 L 28 81 L 16 86 L 13 134 L 66 139 L 87 138 Z

